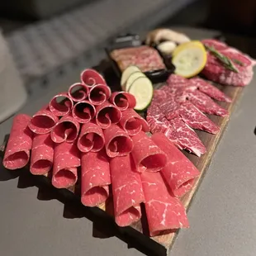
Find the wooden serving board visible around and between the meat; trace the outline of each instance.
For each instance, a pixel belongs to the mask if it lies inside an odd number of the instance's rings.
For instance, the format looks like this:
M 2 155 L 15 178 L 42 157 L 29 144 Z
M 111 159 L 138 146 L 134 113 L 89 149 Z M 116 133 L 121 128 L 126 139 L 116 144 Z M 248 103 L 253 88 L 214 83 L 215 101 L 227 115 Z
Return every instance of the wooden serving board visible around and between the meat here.
M 104 66 L 105 64 L 103 64 Z M 105 78 L 107 78 L 107 84 L 111 86 L 112 90 L 118 90 L 118 80 L 115 81 L 115 74 L 109 73 L 109 69 L 106 69 L 106 67 L 103 68 L 100 66 L 95 67 L 94 69 L 97 69 L 98 71 L 101 71 L 104 73 Z M 107 70 L 107 71 L 106 71 Z M 107 73 L 106 73 L 107 72 Z M 110 78 L 108 80 L 108 78 Z M 163 85 L 163 84 L 162 84 Z M 155 85 L 156 87 L 159 87 L 161 85 Z M 243 92 L 243 88 L 235 88 L 232 86 L 222 86 L 222 85 L 216 85 L 222 92 L 225 92 L 227 96 L 229 96 L 232 99 L 231 103 L 226 102 L 218 102 L 220 106 L 224 107 L 230 112 L 230 115 L 232 114 L 232 111 L 234 111 L 235 104 L 238 102 L 239 97 L 241 96 Z M 225 132 L 225 127 L 229 121 L 230 116 L 220 117 L 220 116 L 208 116 L 211 121 L 216 123 L 216 125 L 220 126 L 220 132 L 216 135 L 211 135 L 203 131 L 197 131 L 197 135 L 201 139 L 202 143 L 206 146 L 206 154 L 202 155 L 200 158 L 198 158 L 196 155 L 188 154 L 187 152 L 183 151 L 184 154 L 186 154 L 187 158 L 192 161 L 193 164 L 198 168 L 200 171 L 200 176 L 196 179 L 194 186 L 192 187 L 192 190 L 190 192 L 187 192 L 187 194 L 182 197 L 183 205 L 186 207 L 187 211 L 189 209 L 189 206 L 191 205 L 192 198 L 194 197 L 195 193 L 197 192 L 197 188 L 200 186 L 201 180 L 204 177 L 206 170 L 208 166 L 211 164 L 211 159 L 216 151 L 217 145 L 220 143 L 220 139 L 222 135 Z M 3 151 L 4 148 L 2 148 Z M 1 150 L 1 149 L 0 149 Z M 46 180 L 47 183 L 50 184 L 50 177 L 43 177 L 43 180 Z M 80 185 L 79 182 L 75 187 L 70 187 L 68 190 L 59 190 L 61 192 L 69 192 L 69 196 L 73 199 L 80 200 Z M 68 194 L 66 194 L 68 195 Z M 97 215 L 100 214 L 100 216 L 103 214 L 103 216 L 113 216 L 113 204 L 111 197 L 107 200 L 106 203 L 103 203 L 102 205 L 98 207 L 92 208 L 92 211 L 96 213 Z M 161 235 L 155 236 L 155 237 L 149 237 L 149 230 L 147 226 L 147 222 L 145 220 L 145 209 L 144 206 L 142 206 L 142 219 L 129 227 L 120 228 L 119 230 L 121 233 L 124 233 L 125 235 L 131 237 L 133 240 L 135 240 L 137 243 L 139 242 L 142 246 L 144 246 L 146 249 L 149 249 L 150 255 L 167 255 L 169 250 L 173 246 L 173 242 L 175 241 L 178 230 L 172 230 L 168 232 L 164 232 Z

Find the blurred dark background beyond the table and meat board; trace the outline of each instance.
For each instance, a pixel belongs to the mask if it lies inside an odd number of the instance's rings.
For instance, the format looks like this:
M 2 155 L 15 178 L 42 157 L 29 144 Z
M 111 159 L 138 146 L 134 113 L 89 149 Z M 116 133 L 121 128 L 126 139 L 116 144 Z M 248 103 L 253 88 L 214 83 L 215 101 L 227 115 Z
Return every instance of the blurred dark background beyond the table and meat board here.
M 255 0 L 1 1 L 0 121 L 77 81 L 121 33 L 189 26 L 253 40 L 255 17 Z

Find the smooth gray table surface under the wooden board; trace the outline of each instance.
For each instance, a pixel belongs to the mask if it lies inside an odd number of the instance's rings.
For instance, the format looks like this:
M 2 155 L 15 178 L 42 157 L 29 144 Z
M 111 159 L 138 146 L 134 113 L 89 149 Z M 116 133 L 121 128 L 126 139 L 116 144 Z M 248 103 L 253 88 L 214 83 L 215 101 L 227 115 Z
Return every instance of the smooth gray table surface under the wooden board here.
M 185 30 L 193 38 L 213 36 L 210 31 Z M 21 110 L 32 114 L 56 92 L 73 82 L 59 81 L 51 92 Z M 214 155 L 206 177 L 192 202 L 191 228 L 182 230 L 172 256 L 239 256 L 256 254 L 256 137 L 254 117 L 256 78 L 244 88 L 235 112 Z M 12 119 L 0 125 L 0 140 Z M 66 216 L 64 204 L 41 198 L 26 178 L 15 178 L 0 166 L 0 254 L 4 256 L 143 255 L 116 236 L 100 239 L 85 217 Z M 27 184 L 26 184 L 27 183 Z M 39 199 L 38 199 L 39 198 Z

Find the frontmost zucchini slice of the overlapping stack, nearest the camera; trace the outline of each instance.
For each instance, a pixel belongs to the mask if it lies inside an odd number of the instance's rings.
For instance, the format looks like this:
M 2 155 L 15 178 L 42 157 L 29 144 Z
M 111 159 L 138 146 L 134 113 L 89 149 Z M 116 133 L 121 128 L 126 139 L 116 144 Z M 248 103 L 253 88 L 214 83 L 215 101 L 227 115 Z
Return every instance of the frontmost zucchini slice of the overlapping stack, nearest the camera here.
M 149 78 L 140 77 L 130 85 L 129 92 L 135 96 L 135 110 L 143 111 L 152 101 L 154 88 Z

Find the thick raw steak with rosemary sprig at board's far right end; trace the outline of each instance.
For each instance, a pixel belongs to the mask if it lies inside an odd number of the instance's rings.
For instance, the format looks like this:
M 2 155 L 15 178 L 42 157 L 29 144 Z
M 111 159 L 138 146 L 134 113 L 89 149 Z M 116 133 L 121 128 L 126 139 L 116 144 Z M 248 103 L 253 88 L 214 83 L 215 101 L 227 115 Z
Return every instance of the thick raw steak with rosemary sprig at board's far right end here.
M 208 52 L 206 66 L 202 70 L 206 78 L 217 83 L 233 86 L 245 86 L 251 82 L 254 75 L 253 67 L 256 64 L 254 59 L 217 40 L 202 40 L 202 43 L 213 46 L 221 55 L 228 57 L 238 70 L 238 73 L 235 73 L 226 69 L 219 59 Z

